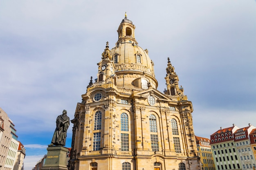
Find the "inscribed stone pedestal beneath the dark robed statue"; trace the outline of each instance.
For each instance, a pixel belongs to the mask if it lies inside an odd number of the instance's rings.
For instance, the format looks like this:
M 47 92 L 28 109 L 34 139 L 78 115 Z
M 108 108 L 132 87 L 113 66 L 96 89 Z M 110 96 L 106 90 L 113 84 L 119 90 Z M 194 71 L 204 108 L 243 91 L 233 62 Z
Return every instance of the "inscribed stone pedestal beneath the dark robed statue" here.
M 47 150 L 45 164 L 41 170 L 67 170 L 68 149 L 64 146 L 49 146 Z

